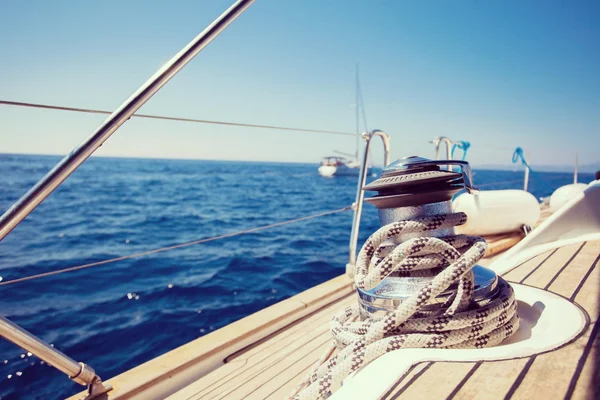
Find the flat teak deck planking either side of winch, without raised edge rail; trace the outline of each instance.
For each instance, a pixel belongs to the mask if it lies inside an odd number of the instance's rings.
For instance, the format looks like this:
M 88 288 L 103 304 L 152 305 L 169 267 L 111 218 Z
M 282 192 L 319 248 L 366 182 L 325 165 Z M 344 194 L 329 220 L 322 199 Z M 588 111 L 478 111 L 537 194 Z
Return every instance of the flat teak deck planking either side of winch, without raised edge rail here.
M 600 241 L 540 254 L 504 277 L 577 303 L 589 315 L 583 334 L 549 353 L 508 361 L 426 362 L 414 366 L 385 399 L 599 398 Z M 239 351 L 170 400 L 282 399 L 330 343 L 329 321 L 355 301 L 348 294 Z M 435 384 L 432 384 L 435 383 Z

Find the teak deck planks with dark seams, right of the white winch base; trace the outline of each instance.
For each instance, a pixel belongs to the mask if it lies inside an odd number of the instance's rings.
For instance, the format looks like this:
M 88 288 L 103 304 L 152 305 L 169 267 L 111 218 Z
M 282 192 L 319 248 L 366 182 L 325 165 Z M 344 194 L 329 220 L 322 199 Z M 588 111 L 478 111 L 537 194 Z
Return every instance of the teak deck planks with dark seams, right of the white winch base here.
M 526 284 L 539 288 L 553 287 L 561 295 L 570 297 L 579 303 L 590 314 L 592 323 L 598 318 L 600 307 L 600 267 L 598 264 L 598 253 L 600 242 L 580 243 L 559 248 L 545 257 L 534 258 L 522 265 L 524 271 L 513 270 L 522 276 Z M 562 274 L 574 275 L 576 278 L 560 279 Z M 566 287 L 559 286 L 566 284 Z M 534 357 L 484 363 L 485 375 L 479 371 L 483 364 L 477 367 L 472 376 L 465 379 L 468 374 L 464 371 L 463 363 L 434 363 L 428 371 L 404 390 L 400 398 L 465 398 L 469 393 L 473 396 L 475 391 L 490 385 L 499 386 L 500 393 L 493 397 L 503 398 L 563 398 L 568 393 L 571 376 L 581 362 L 582 350 L 590 340 L 592 329 L 580 336 L 574 343 L 557 351 L 540 354 Z M 594 360 L 597 361 L 597 358 Z M 583 360 L 585 363 L 586 360 Z M 593 382 L 593 375 L 597 373 L 595 367 L 585 370 L 587 375 L 578 376 L 581 385 L 589 385 Z M 499 379 L 504 376 L 504 380 Z M 439 377 L 443 377 L 440 379 Z M 431 383 L 435 382 L 435 385 Z M 458 392 L 448 393 L 448 388 L 454 386 L 459 388 Z M 462 388 L 460 388 L 462 386 Z M 471 388 L 471 389 L 470 389 Z M 461 393 L 461 390 L 463 390 Z M 466 392 L 472 390 L 472 392 Z M 487 392 L 489 398 L 492 392 Z M 506 396 L 506 397 L 505 397 Z

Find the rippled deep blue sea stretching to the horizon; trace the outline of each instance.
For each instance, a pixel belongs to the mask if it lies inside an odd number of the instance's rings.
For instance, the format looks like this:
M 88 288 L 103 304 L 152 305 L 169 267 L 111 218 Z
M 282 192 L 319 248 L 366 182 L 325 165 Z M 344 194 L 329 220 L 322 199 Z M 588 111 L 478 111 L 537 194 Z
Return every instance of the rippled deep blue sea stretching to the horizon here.
M 6 210 L 58 157 L 0 155 Z M 520 171 L 475 171 L 485 189 Z M 536 197 L 572 183 L 539 173 Z M 580 174 L 581 182 L 593 179 Z M 500 183 L 498 182 L 509 182 Z M 3 281 L 350 205 L 354 178 L 316 165 L 95 157 L 0 243 Z M 0 286 L 0 315 L 108 379 L 344 273 L 352 212 Z M 365 205 L 361 242 L 378 227 Z M 0 339 L 0 399 L 60 399 L 83 388 Z

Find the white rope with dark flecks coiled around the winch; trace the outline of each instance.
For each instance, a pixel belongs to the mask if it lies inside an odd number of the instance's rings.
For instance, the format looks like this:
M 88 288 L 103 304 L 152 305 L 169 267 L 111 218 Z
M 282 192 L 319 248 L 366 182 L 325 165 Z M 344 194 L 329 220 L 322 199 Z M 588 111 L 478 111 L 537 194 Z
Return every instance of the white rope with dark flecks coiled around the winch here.
M 377 230 L 358 255 L 355 283 L 372 289 L 391 273 L 402 276 L 430 275 L 433 279 L 381 319 L 359 320 L 358 306 L 350 306 L 331 322 L 334 346 L 339 353 L 326 360 L 301 382 L 294 399 L 329 397 L 344 378 L 377 357 L 402 348 L 483 348 L 508 338 L 519 327 L 513 289 L 498 278 L 498 294 L 487 304 L 472 302 L 472 268 L 483 257 L 487 245 L 482 238 L 453 235 L 418 237 L 388 245 L 408 233 L 426 232 L 462 225 L 464 213 L 428 216 L 399 221 Z M 424 311 L 427 305 L 453 283 L 454 296 L 439 311 Z M 298 391 L 300 393 L 298 393 Z

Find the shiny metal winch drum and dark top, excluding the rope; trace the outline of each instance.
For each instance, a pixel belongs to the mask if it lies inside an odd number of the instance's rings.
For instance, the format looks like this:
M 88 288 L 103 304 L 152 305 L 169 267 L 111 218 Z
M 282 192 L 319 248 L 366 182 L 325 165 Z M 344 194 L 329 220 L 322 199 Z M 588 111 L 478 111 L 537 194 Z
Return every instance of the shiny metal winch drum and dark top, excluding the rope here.
M 440 166 L 458 165 L 461 172 L 441 169 Z M 461 189 L 475 194 L 471 168 L 466 161 L 429 160 L 422 157 L 406 157 L 386 166 L 379 179 L 366 185 L 363 190 L 377 194 L 365 199 L 377 207 L 381 226 L 417 217 L 452 213 L 452 196 Z M 393 244 L 402 243 L 418 236 L 454 235 L 453 228 L 403 235 Z M 390 243 L 392 244 L 392 243 Z M 473 268 L 475 288 L 473 301 L 480 306 L 491 301 L 498 292 L 498 277 L 490 269 L 476 265 Z M 396 309 L 413 293 L 421 289 L 431 277 L 405 277 L 392 273 L 378 286 L 370 290 L 357 289 L 360 313 L 363 318 L 379 318 Z M 456 291 L 456 284 L 449 287 L 422 311 L 435 311 Z

